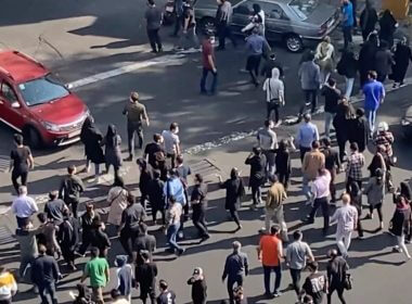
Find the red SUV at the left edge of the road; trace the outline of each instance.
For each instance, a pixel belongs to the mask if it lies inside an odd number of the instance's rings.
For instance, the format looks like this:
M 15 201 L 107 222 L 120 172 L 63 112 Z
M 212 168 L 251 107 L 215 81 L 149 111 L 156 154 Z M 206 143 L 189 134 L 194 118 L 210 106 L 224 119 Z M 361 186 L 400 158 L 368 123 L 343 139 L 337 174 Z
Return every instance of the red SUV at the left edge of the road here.
M 33 148 L 79 140 L 85 103 L 48 68 L 17 51 L 0 52 L 0 121 Z

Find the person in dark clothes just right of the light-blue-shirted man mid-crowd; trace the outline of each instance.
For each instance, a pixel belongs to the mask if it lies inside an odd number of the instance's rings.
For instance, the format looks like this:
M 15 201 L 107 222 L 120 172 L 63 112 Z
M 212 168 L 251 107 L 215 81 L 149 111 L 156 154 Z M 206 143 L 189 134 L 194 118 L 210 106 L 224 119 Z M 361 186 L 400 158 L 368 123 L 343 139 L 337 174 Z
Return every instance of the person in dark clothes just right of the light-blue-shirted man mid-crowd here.
M 193 226 L 197 228 L 198 236 L 202 241 L 210 238 L 207 231 L 205 214 L 207 208 L 207 185 L 203 182 L 203 176 L 196 174 L 194 176 L 194 187 L 191 195 L 191 204 L 193 208 L 192 220 Z

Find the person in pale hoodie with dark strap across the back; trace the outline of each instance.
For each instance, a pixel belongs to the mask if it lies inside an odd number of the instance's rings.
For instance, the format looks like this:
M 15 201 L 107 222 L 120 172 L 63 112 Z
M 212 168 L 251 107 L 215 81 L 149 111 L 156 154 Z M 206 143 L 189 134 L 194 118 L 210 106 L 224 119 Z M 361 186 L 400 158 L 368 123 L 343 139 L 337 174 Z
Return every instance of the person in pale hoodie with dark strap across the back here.
M 279 119 L 279 107 L 285 105 L 285 87 L 281 79 L 281 73 L 278 67 L 271 71 L 271 78 L 267 78 L 263 83 L 263 91 L 266 91 L 267 102 L 267 119 L 271 121 L 272 111 L 274 111 L 274 124 L 278 127 L 281 124 Z

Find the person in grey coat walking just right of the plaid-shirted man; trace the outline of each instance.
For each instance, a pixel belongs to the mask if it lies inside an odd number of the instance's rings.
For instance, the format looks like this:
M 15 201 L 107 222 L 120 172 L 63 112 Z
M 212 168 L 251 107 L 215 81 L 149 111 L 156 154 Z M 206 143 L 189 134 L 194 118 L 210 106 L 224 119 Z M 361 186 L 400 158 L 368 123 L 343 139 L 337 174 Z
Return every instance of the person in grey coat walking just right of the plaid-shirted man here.
M 369 215 L 366 218 L 373 218 L 373 211 L 377 211 L 377 215 L 379 217 L 379 227 L 378 230 L 384 229 L 384 218 L 382 214 L 382 205 L 385 199 L 385 177 L 384 172 L 379 168 L 375 170 L 374 176 L 372 176 L 363 189 L 363 194 L 368 195 L 368 204 L 369 204 Z

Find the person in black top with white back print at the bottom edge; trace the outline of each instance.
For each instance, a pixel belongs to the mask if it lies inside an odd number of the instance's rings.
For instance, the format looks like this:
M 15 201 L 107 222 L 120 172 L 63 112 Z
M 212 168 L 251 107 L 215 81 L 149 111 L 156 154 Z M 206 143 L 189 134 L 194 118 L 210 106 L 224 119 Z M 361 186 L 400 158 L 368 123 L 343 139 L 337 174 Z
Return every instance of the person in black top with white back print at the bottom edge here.
M 319 273 L 318 262 L 308 263 L 310 275 L 306 278 L 302 290 L 312 297 L 313 304 L 322 304 L 327 293 L 327 278 Z

